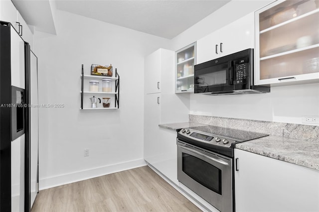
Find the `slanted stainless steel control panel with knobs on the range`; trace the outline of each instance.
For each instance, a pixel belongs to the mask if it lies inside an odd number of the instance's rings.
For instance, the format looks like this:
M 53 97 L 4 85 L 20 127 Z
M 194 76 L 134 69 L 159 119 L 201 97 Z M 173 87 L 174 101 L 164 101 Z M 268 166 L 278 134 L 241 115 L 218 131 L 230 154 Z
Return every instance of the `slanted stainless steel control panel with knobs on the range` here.
M 199 131 L 192 130 L 192 129 L 183 128 L 178 133 L 183 135 L 183 136 L 186 136 L 190 139 L 209 143 L 212 145 L 217 145 L 217 146 L 230 147 L 231 144 L 235 142 L 235 140 L 232 140 L 231 138 L 226 138 L 226 137 L 221 137 L 218 135 L 199 132 Z

